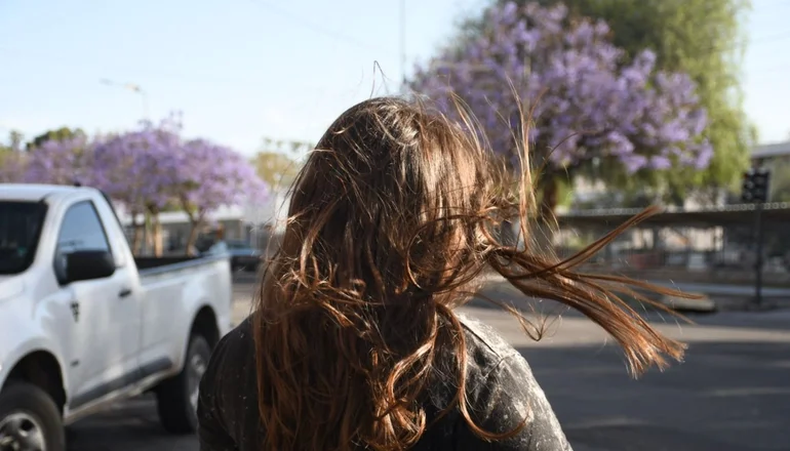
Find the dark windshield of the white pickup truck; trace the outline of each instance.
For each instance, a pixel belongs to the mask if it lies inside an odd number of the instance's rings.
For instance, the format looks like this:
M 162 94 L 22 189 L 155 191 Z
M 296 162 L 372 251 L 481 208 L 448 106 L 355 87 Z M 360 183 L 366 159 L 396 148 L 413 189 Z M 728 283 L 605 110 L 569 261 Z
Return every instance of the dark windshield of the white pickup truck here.
M 33 263 L 47 206 L 0 201 L 0 274 L 19 274 Z

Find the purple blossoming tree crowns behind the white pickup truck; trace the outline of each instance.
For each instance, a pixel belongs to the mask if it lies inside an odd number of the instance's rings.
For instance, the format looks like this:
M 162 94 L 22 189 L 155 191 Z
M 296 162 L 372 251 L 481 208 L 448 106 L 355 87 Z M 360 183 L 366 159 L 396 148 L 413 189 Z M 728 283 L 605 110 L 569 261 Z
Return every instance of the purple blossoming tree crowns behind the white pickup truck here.
M 130 213 L 180 205 L 198 222 L 225 205 L 265 200 L 267 186 L 241 155 L 207 140 L 185 141 L 181 129 L 173 114 L 100 139 L 47 141 L 30 153 L 20 178 L 95 186 Z

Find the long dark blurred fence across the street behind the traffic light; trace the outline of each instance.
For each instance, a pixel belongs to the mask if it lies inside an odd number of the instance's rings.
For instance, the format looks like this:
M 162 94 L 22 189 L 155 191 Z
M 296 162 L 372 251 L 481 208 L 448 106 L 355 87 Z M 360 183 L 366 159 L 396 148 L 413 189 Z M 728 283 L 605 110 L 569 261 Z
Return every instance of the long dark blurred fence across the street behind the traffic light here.
M 599 210 L 561 216 L 555 240 L 560 255 L 572 255 L 636 213 Z M 790 286 L 790 205 L 766 205 L 762 223 L 765 283 Z M 755 232 L 751 205 L 668 211 L 624 233 L 587 266 L 641 279 L 752 283 Z

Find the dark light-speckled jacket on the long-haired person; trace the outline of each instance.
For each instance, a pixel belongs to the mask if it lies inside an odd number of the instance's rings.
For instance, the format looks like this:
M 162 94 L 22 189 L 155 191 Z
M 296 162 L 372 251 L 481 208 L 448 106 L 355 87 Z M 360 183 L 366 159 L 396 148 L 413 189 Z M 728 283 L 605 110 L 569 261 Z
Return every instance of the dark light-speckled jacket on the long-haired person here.
M 490 327 L 462 315 L 468 349 L 467 397 L 475 423 L 486 431 L 514 430 L 513 438 L 487 442 L 467 426 L 458 409 L 429 427 L 414 450 L 571 451 L 554 412 L 524 357 Z M 200 385 L 198 419 L 202 451 L 258 451 L 263 443 L 256 396 L 252 325 L 249 320 L 225 336 Z M 454 392 L 431 390 L 430 417 Z M 312 451 L 312 450 L 311 450 Z

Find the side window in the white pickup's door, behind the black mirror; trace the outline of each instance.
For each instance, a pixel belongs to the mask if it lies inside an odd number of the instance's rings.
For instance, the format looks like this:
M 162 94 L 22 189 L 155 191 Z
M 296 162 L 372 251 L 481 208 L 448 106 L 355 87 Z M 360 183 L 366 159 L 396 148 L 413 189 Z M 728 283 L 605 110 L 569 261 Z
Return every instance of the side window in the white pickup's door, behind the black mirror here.
M 55 249 L 55 276 L 66 280 L 66 256 L 76 251 L 112 252 L 101 219 L 91 201 L 78 202 L 66 211 Z

